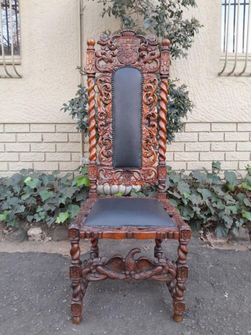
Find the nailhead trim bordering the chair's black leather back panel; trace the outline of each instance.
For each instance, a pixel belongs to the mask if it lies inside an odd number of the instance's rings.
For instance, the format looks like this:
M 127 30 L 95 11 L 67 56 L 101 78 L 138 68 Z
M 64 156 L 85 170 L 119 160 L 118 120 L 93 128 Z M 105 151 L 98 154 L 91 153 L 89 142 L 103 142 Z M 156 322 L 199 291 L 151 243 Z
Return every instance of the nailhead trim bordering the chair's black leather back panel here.
M 141 76 L 142 76 L 142 84 L 141 84 L 141 164 L 140 164 L 140 168 L 138 167 L 124 167 L 124 168 L 115 168 L 115 164 L 114 164 L 114 134 L 115 134 L 115 126 L 114 126 L 114 91 L 113 91 L 113 80 L 114 80 L 114 73 L 123 68 L 123 67 L 132 67 L 133 69 L 137 69 L 138 71 L 140 71 Z M 142 169 L 142 142 L 143 142 L 143 136 L 142 136 L 142 122 L 143 122 L 143 88 L 144 88 L 144 74 L 143 71 L 140 70 L 138 67 L 135 66 L 131 66 L 131 65 L 125 65 L 125 66 L 120 66 L 118 68 L 116 68 L 115 70 L 112 71 L 112 75 L 111 75 L 111 98 L 112 98 L 112 102 L 111 102 L 111 113 L 112 113 L 112 167 L 114 170 L 133 170 L 133 169 Z

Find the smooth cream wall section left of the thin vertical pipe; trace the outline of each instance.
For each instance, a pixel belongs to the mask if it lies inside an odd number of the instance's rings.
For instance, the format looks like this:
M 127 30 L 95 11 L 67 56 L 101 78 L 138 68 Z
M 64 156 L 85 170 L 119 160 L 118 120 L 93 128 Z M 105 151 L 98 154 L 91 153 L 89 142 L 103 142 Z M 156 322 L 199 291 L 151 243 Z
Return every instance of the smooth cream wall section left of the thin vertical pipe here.
M 77 0 L 20 0 L 17 68 L 23 78 L 0 79 L 1 123 L 70 121 L 60 108 L 79 83 L 77 5 Z

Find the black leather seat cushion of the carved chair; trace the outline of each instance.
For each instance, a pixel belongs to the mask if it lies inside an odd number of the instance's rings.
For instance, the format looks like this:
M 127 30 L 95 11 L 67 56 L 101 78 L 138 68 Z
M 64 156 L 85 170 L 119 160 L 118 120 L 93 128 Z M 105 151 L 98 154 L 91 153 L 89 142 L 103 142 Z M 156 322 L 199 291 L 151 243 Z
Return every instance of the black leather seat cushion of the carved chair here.
M 100 198 L 84 226 L 88 227 L 174 227 L 174 223 L 157 199 Z

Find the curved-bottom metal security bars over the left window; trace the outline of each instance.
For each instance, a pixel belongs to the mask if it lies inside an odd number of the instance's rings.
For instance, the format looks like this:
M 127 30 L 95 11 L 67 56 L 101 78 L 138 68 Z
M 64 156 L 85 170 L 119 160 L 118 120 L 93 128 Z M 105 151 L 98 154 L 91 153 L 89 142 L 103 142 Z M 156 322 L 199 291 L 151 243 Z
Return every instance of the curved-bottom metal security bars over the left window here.
M 5 70 L 0 78 L 22 78 L 15 65 L 15 57 L 20 58 L 19 0 L 0 0 L 0 43 L 0 64 Z

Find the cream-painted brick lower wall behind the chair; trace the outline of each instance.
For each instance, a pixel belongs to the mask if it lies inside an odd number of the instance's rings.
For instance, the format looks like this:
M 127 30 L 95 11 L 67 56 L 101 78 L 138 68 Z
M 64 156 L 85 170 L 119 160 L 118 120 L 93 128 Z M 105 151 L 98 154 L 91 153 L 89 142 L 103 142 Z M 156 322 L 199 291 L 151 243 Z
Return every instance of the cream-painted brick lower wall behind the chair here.
M 174 170 L 211 168 L 245 173 L 251 152 L 250 123 L 187 123 L 185 132 L 167 147 L 167 164 Z M 84 144 L 88 157 L 88 144 Z M 80 164 L 80 134 L 75 124 L 0 125 L 0 175 L 23 168 L 73 171 Z

